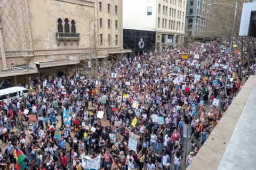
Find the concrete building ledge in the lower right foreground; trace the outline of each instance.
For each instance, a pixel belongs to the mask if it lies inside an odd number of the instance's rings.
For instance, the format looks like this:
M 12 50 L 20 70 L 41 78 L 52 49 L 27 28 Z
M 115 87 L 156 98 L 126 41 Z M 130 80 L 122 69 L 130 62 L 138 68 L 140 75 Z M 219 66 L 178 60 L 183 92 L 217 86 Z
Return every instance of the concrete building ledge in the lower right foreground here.
M 255 167 L 256 76 L 250 76 L 197 153 L 188 170 Z

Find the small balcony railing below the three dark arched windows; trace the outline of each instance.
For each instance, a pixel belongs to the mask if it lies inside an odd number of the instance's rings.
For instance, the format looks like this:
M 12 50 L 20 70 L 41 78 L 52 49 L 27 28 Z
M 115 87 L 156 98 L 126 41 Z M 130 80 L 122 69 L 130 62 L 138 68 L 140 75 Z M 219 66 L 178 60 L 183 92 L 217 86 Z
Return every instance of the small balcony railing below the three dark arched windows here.
M 56 33 L 57 45 L 60 45 L 60 42 L 63 41 L 64 45 L 67 45 L 67 42 L 70 41 L 70 45 L 73 45 L 75 41 L 79 45 L 80 33 Z

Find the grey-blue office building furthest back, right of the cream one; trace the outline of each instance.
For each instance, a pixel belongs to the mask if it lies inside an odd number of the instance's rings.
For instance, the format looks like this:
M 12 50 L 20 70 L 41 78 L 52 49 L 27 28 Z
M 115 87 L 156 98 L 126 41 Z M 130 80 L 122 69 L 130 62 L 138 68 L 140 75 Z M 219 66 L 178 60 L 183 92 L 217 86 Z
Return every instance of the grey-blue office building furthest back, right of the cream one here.
M 206 0 L 187 0 L 186 36 L 200 36 L 205 29 Z

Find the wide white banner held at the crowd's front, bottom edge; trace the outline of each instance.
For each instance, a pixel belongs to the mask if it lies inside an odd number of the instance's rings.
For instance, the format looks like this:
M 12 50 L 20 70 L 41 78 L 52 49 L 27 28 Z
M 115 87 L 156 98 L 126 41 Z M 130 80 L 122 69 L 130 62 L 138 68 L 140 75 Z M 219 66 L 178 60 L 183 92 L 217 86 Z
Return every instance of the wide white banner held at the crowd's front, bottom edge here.
M 84 155 L 81 155 L 81 157 L 84 169 L 100 169 L 100 154 L 93 159 Z

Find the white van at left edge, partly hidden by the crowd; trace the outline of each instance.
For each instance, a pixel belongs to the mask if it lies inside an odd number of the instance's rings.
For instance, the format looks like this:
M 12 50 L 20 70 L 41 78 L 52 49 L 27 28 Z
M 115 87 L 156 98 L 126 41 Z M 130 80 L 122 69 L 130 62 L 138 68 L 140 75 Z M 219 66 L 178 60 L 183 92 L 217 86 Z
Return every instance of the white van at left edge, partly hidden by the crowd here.
M 10 87 L 0 90 L 0 101 L 4 101 L 9 105 L 8 98 L 15 98 L 18 95 L 27 95 L 28 89 L 24 87 Z

